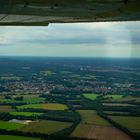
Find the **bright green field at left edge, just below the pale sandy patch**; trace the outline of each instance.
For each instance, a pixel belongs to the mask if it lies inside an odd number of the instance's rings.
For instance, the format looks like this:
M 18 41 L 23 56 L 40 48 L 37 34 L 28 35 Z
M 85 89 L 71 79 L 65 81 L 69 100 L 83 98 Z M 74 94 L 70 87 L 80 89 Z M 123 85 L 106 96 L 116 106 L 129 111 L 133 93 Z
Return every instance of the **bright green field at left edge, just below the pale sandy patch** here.
M 24 124 L 0 121 L 0 129 L 16 130 L 16 129 L 20 129 L 22 127 L 24 127 Z

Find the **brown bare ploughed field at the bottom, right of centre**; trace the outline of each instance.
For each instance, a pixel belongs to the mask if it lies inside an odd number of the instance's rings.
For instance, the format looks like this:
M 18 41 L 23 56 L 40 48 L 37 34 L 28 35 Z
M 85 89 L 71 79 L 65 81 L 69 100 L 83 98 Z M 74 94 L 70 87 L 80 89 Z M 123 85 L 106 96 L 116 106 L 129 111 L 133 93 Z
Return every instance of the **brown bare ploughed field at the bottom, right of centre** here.
M 131 140 L 131 138 L 122 131 L 107 126 L 96 126 L 80 124 L 71 137 L 97 139 L 97 140 Z

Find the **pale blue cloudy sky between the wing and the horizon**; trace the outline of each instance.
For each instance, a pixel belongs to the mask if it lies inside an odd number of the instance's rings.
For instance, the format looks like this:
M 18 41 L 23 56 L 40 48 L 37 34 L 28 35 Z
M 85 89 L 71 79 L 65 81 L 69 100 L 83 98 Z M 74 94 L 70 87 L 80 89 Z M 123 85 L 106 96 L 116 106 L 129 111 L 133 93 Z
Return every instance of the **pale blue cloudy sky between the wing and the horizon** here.
M 0 26 L 0 56 L 140 57 L 140 21 Z

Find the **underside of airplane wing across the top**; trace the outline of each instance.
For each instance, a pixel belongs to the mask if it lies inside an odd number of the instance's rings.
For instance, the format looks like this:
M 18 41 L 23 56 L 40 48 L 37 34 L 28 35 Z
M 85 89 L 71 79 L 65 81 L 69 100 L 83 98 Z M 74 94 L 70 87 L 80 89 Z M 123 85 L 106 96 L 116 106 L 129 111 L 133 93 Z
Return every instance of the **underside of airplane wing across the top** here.
M 140 0 L 0 0 L 0 25 L 140 20 Z

